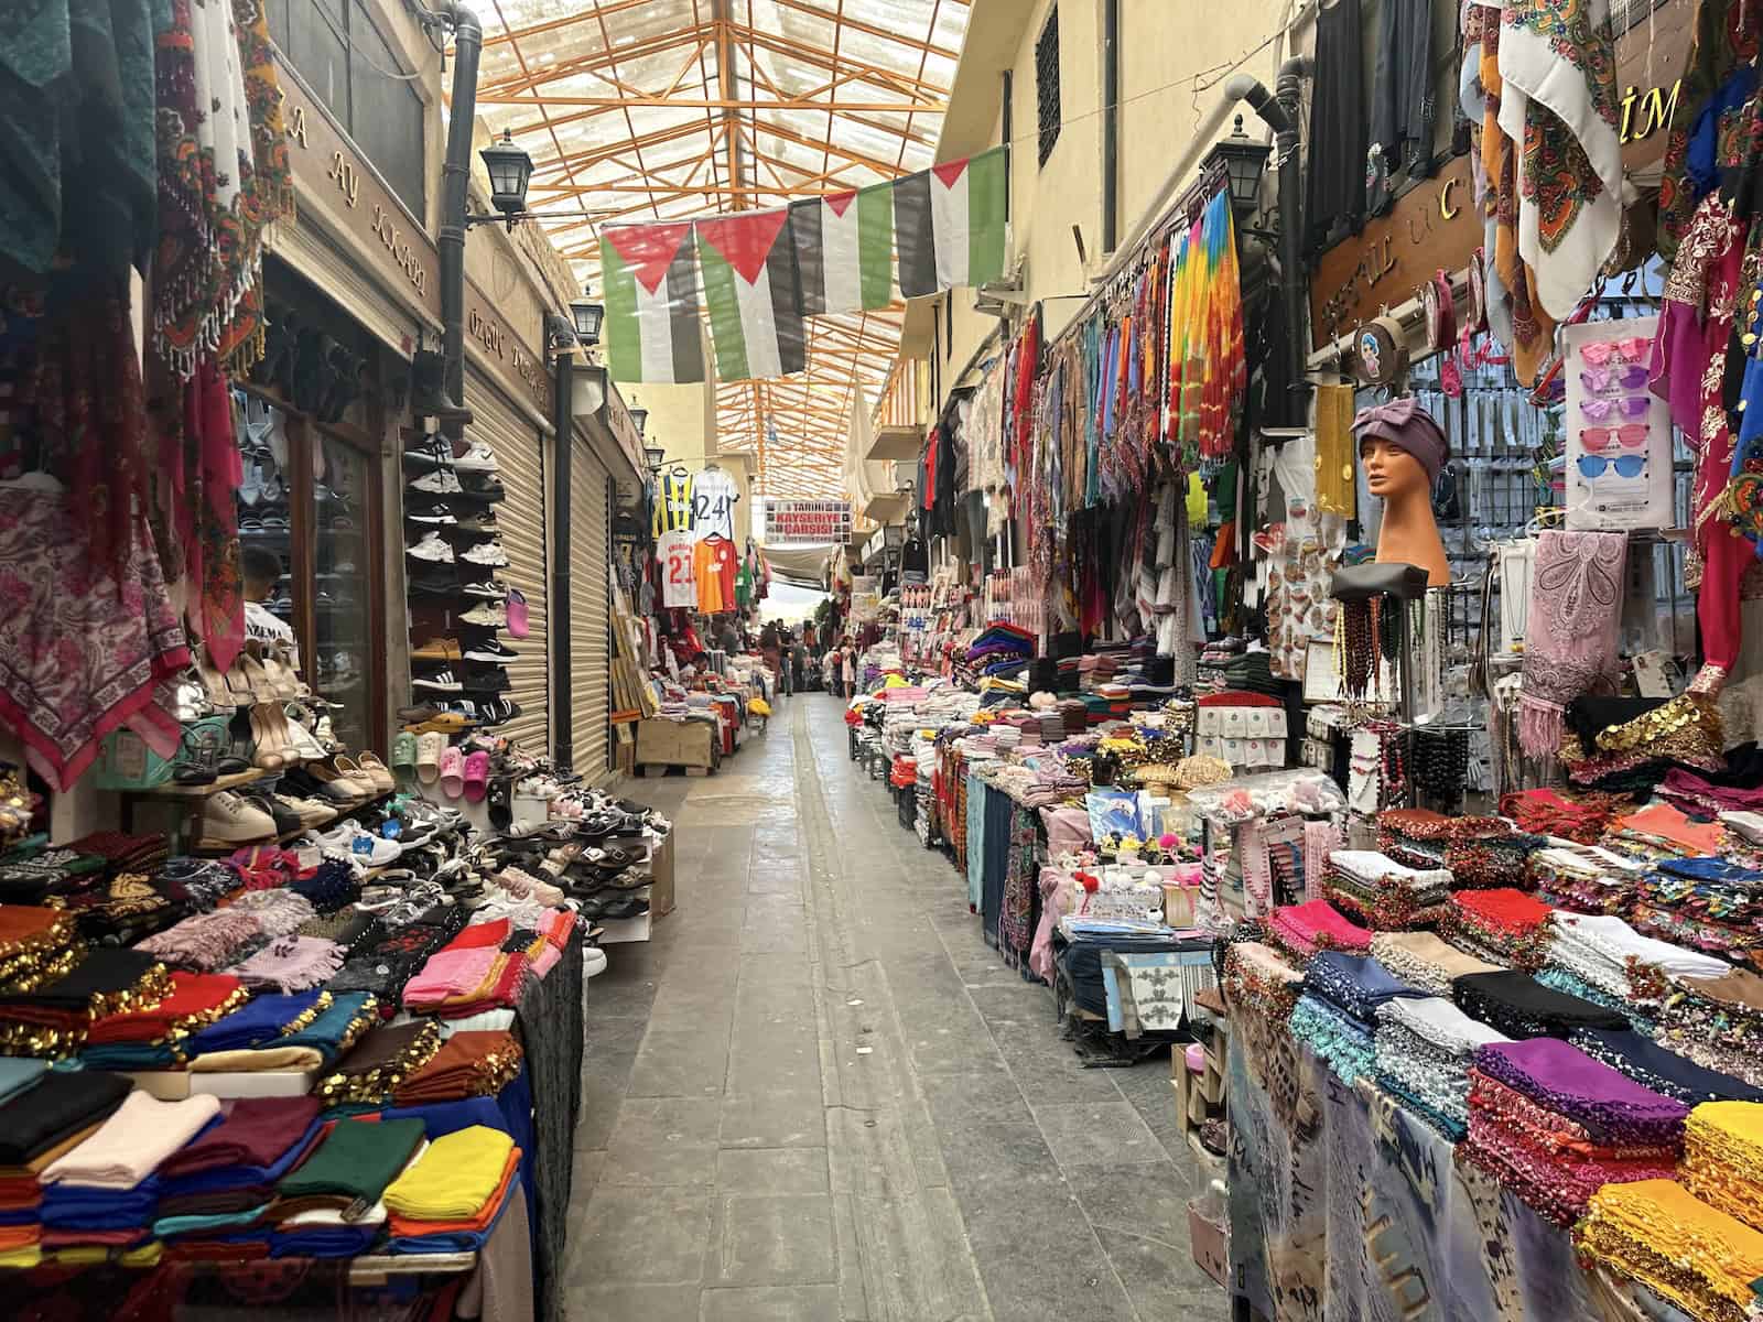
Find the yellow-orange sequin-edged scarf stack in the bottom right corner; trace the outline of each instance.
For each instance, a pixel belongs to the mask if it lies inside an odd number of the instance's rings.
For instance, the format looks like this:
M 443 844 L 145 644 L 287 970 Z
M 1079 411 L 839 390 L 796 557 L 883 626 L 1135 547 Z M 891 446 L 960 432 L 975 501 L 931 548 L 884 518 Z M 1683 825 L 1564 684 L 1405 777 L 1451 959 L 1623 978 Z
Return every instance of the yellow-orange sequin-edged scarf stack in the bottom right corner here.
M 1703 1322 L 1754 1317 L 1763 1234 L 1673 1179 L 1608 1185 L 1574 1227 L 1574 1246 Z

